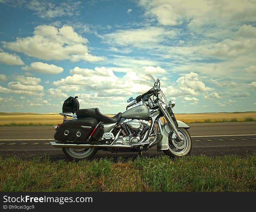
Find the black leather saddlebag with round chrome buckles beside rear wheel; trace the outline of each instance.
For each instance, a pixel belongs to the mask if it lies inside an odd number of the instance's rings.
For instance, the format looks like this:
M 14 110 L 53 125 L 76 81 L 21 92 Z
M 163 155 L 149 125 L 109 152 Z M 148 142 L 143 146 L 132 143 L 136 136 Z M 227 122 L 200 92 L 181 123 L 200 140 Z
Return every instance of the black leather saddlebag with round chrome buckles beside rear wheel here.
M 95 118 L 79 118 L 62 123 L 54 134 L 57 141 L 86 141 L 98 121 Z

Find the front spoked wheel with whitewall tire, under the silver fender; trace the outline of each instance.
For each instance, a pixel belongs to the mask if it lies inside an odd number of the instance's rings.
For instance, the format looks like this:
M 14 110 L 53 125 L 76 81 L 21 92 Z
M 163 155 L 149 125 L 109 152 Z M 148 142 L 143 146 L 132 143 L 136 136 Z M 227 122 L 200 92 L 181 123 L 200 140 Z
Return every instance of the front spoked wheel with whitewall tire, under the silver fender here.
M 181 157 L 188 155 L 192 148 L 191 137 L 189 132 L 184 128 L 177 129 L 179 135 L 183 138 L 183 141 L 179 141 L 175 132 L 169 132 L 168 135 L 168 150 L 163 152 L 170 157 Z

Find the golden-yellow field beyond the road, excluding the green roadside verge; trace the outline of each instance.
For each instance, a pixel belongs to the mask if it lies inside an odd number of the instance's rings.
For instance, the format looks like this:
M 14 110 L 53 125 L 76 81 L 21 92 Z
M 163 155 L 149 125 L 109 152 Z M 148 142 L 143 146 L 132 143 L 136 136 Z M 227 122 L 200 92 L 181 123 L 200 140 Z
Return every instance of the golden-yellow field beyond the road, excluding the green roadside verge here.
M 8 114 L 8 115 L 7 115 Z M 11 122 L 15 123 L 62 123 L 63 116 L 60 114 L 27 114 L 27 113 L 1 113 L 0 112 L 0 124 L 7 124 Z M 107 114 L 107 116 L 113 116 Z M 195 114 L 175 114 L 177 120 L 185 123 L 191 122 L 204 122 L 207 119 L 211 121 L 237 118 L 237 121 L 243 121 L 245 117 L 252 117 L 256 119 L 256 111 L 250 112 L 233 112 L 233 113 L 195 113 Z

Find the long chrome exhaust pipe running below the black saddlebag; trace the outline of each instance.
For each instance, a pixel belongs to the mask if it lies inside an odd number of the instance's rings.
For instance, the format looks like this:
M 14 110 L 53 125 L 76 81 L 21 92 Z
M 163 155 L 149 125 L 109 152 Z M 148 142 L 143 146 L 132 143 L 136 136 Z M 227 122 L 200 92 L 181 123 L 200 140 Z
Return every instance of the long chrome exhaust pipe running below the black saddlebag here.
M 58 143 L 55 141 L 50 141 L 51 145 L 54 147 L 62 148 L 90 148 L 90 147 L 111 147 L 111 148 L 134 148 L 130 145 L 106 145 L 106 144 L 79 144 L 79 143 Z

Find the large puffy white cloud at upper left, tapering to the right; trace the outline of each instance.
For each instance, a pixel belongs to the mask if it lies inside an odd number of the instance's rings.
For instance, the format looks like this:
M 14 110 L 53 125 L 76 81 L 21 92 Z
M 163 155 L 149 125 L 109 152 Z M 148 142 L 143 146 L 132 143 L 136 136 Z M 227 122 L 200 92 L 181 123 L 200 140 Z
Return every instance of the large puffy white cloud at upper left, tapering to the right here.
M 88 53 L 87 42 L 88 40 L 74 32 L 71 26 L 57 29 L 54 26 L 40 25 L 35 27 L 32 37 L 17 38 L 15 42 L 3 42 L 3 46 L 44 60 L 104 60 L 103 57 Z

